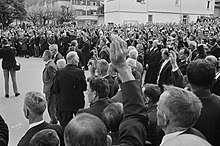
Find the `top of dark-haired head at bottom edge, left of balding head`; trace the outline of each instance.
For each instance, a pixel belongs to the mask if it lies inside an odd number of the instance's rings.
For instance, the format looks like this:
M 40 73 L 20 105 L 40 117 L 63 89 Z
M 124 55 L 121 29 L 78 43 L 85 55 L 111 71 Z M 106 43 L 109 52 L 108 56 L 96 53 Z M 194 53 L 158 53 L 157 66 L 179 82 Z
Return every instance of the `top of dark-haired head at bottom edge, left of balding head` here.
M 44 129 L 36 133 L 30 141 L 31 146 L 59 146 L 60 139 L 53 129 Z

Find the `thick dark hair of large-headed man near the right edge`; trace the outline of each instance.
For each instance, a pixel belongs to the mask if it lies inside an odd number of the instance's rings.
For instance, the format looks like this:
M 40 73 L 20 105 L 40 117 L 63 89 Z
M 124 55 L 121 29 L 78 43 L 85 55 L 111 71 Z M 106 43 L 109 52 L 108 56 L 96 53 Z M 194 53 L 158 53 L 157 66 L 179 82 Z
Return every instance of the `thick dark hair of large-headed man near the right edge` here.
M 209 87 L 215 78 L 215 66 L 205 59 L 192 61 L 186 69 L 190 84 Z

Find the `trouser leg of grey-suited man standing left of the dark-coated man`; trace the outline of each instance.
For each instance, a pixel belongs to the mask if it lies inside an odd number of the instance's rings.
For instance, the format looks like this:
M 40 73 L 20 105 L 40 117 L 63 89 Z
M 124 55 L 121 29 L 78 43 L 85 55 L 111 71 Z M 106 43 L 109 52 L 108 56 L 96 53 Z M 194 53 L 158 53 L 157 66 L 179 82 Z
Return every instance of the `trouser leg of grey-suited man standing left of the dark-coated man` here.
M 54 94 L 46 94 L 47 109 L 52 123 L 57 123 L 56 98 Z

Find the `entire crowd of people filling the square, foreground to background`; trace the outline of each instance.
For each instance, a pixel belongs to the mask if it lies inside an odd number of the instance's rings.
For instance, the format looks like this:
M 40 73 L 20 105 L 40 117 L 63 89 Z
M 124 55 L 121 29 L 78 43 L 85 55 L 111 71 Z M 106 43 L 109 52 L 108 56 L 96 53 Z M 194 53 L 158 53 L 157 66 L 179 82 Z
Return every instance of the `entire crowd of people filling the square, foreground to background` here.
M 9 72 L 15 96 L 20 95 L 15 56 L 45 62 L 44 94 L 25 95 L 30 125 L 18 146 L 219 146 L 219 23 L 199 19 L 2 32 L 5 97 Z M 43 119 L 46 107 L 49 122 Z M 8 145 L 8 132 L 1 118 L 2 146 Z

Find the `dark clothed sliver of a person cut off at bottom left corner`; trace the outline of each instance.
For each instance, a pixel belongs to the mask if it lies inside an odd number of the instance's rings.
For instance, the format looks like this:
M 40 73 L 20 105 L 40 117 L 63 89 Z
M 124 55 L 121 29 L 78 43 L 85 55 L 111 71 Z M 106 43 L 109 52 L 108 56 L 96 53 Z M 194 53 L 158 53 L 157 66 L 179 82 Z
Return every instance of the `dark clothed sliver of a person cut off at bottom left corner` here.
M 8 125 L 5 123 L 4 119 L 0 116 L 0 145 L 7 146 L 9 140 Z

